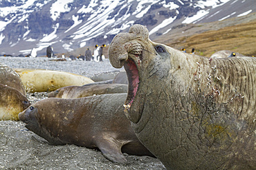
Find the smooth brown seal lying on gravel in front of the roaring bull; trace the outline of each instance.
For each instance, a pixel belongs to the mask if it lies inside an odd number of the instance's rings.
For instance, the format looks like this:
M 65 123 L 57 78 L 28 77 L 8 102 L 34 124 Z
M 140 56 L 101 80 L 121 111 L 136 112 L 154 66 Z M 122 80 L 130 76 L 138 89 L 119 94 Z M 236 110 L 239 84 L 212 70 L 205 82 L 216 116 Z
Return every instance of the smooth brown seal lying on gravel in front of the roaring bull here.
M 28 107 L 19 118 L 51 145 L 98 148 L 113 162 L 125 162 L 122 152 L 153 156 L 140 143 L 123 113 L 126 95 L 47 98 Z

